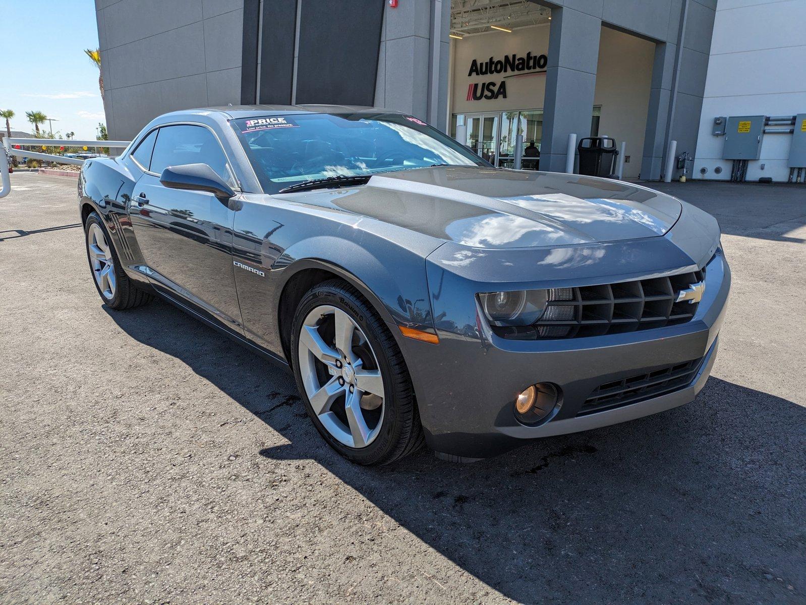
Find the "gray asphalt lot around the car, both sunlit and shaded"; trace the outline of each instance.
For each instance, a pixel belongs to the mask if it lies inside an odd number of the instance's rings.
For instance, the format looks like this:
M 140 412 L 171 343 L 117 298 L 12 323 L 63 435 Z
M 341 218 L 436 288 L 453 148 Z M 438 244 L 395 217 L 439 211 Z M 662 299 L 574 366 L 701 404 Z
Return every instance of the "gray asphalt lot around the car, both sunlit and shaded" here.
M 102 305 L 74 180 L 12 185 L 0 603 L 806 603 L 803 187 L 662 185 L 733 266 L 692 404 L 366 469 L 283 371 L 172 306 Z

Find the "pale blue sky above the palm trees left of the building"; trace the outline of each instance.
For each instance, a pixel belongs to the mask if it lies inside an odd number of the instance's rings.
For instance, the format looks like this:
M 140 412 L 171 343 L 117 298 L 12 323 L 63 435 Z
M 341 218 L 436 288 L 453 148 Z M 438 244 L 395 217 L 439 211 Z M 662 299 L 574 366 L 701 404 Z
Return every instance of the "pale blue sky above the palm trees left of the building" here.
M 98 47 L 95 2 L 0 0 L 0 30 L 0 109 L 15 111 L 11 130 L 33 132 L 25 112 L 39 110 L 59 120 L 54 134 L 95 139 L 98 122 L 106 122 L 98 68 L 84 54 Z M 5 134 L 6 121 L 0 124 Z

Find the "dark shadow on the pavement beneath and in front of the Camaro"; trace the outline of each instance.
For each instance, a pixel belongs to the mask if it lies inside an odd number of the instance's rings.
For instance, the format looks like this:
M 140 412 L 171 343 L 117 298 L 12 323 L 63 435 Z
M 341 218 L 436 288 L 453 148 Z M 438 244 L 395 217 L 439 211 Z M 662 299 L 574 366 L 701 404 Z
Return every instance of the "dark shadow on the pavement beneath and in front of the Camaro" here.
M 180 358 L 285 437 L 288 444 L 256 453 L 267 462 L 318 462 L 510 599 L 804 597 L 806 408 L 790 401 L 711 378 L 682 408 L 546 438 L 472 465 L 423 451 L 366 468 L 326 446 L 285 371 L 162 302 L 109 314 L 132 338 Z

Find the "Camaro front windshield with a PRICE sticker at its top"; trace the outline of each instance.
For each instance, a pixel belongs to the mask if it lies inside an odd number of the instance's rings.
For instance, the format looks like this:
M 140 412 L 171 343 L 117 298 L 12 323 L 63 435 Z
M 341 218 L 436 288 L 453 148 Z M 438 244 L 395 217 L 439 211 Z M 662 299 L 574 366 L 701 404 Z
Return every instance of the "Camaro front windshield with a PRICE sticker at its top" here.
M 401 114 L 264 115 L 231 124 L 266 193 L 331 176 L 487 165 L 426 122 Z

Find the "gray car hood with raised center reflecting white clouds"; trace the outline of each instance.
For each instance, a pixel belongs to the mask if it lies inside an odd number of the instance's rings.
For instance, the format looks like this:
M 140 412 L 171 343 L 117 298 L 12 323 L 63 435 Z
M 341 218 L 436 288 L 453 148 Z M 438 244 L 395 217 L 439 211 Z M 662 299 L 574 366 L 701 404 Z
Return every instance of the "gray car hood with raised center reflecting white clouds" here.
M 282 197 L 485 249 L 658 237 L 682 210 L 674 197 L 616 180 L 458 166 L 389 172 L 354 189 Z

